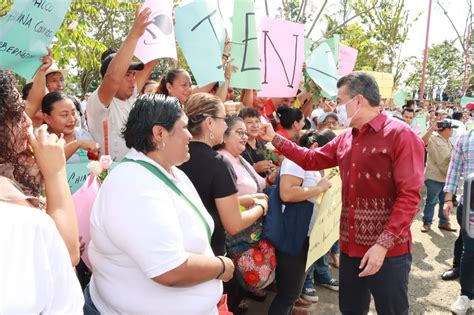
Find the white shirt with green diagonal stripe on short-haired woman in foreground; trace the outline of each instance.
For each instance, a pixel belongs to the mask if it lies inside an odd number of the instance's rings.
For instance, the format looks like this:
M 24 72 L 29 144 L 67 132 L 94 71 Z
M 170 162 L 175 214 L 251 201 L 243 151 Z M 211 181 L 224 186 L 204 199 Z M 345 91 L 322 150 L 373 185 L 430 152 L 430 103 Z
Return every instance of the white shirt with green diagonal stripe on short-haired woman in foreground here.
M 132 149 L 127 158 L 159 167 Z M 172 167 L 168 177 L 193 201 L 214 229 L 189 178 Z M 102 314 L 217 314 L 222 282 L 166 287 L 152 278 L 183 264 L 191 253 L 214 256 L 195 211 L 143 166 L 116 166 L 102 185 L 91 214 L 89 258 L 92 301 Z

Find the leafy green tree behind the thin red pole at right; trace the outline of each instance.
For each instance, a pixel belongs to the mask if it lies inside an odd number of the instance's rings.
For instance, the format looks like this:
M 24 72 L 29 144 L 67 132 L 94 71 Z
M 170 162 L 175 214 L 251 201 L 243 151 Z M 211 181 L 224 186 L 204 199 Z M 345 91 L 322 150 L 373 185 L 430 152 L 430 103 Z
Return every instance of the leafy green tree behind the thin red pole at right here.
M 426 92 L 427 99 L 431 99 L 433 92 L 444 90 L 448 97 L 458 97 L 462 87 L 464 73 L 463 53 L 453 45 L 454 41 L 445 40 L 428 49 L 428 63 L 426 65 Z M 414 60 L 412 66 L 415 71 L 408 77 L 407 85 L 418 90 L 421 81 L 423 60 Z

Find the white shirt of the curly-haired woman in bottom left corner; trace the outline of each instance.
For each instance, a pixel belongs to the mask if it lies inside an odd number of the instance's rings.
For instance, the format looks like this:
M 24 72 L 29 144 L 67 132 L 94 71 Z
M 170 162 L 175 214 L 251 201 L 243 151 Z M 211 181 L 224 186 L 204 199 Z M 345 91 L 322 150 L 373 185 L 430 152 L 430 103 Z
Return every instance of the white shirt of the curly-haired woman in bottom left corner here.
M 66 245 L 44 212 L 0 202 L 0 314 L 82 314 Z

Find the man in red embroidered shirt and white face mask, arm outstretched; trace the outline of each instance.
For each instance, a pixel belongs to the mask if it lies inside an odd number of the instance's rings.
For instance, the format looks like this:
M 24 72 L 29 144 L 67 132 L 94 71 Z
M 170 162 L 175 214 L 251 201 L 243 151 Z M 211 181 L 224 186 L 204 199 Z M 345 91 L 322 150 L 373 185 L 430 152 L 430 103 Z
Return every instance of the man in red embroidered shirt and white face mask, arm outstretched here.
M 341 312 L 367 314 L 372 294 L 377 313 L 408 314 L 410 226 L 423 186 L 423 142 L 381 112 L 371 75 L 354 72 L 337 86 L 339 119 L 352 127 L 347 132 L 316 150 L 284 139 L 268 124 L 263 138 L 305 170 L 339 166 Z

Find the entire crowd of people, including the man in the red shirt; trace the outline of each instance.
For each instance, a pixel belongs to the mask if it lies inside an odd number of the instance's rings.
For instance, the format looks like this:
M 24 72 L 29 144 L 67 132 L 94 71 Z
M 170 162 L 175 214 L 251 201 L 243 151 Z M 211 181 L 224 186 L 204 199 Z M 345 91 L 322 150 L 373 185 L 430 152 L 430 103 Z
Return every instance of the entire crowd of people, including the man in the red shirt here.
M 149 80 L 158 60 L 135 62 L 133 52 L 150 13 L 138 12 L 120 49 L 102 54 L 102 81 L 82 103 L 65 92 L 70 74 L 51 52 L 22 89 L 0 70 L 0 313 L 238 314 L 274 280 L 272 315 L 317 302 L 316 286 L 338 292 L 343 314 L 366 314 L 371 296 L 380 314 L 408 314 L 410 228 L 424 186 L 422 232 L 436 206 L 438 228 L 459 229 L 442 278 L 460 278 L 451 311 L 466 313 L 474 240 L 449 215 L 457 209 L 460 223 L 459 180 L 474 171 L 474 104 L 397 108 L 364 72 L 340 78 L 335 101 L 315 97 L 314 85 L 263 98 L 229 88 L 228 45 L 225 82 L 196 87 L 183 69 Z M 66 164 L 100 155 L 120 163 L 82 244 Z M 340 238 L 306 270 L 333 167 Z M 294 233 L 261 242 L 267 213 L 283 213 Z

